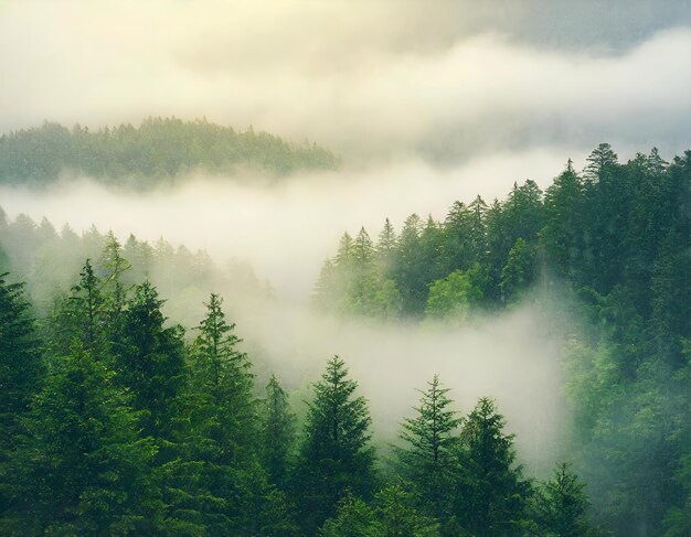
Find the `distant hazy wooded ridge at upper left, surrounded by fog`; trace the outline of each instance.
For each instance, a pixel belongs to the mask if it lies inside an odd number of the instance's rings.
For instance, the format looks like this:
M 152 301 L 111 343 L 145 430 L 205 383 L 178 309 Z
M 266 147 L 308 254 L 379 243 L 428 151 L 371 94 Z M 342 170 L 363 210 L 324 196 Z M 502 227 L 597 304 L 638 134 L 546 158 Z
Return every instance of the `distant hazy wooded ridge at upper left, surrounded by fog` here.
M 44 122 L 0 136 L 0 183 L 45 185 L 63 172 L 128 186 L 147 186 L 204 170 L 233 174 L 255 168 L 276 175 L 330 170 L 338 158 L 316 144 L 294 146 L 251 128 L 235 131 L 203 120 L 148 118 L 89 131 Z

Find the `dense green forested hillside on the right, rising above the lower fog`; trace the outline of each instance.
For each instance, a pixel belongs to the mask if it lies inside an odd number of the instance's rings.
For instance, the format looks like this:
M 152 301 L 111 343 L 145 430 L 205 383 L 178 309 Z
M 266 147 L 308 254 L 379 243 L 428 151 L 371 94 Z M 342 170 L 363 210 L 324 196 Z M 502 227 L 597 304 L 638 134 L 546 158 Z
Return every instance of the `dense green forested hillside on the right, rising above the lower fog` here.
M 620 163 L 602 143 L 585 170 L 568 161 L 544 192 L 529 180 L 501 202 L 456 202 L 440 223 L 414 214 L 397 235 L 386 221 L 376 243 L 364 229 L 355 239 L 344 234 L 315 302 L 368 318 L 458 323 L 511 307 L 538 283 L 564 282 L 582 329 L 568 362 L 572 444 L 597 516 L 621 535 L 684 535 L 691 151 L 671 163 L 656 149 Z

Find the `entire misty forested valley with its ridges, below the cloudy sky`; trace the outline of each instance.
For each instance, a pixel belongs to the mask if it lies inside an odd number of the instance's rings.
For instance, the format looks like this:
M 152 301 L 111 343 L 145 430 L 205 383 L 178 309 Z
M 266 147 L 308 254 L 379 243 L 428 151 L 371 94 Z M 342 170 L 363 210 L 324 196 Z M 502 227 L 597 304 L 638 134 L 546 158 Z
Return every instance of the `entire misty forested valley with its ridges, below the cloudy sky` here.
M 691 151 L 560 158 L 3 135 L 0 533 L 689 535 Z

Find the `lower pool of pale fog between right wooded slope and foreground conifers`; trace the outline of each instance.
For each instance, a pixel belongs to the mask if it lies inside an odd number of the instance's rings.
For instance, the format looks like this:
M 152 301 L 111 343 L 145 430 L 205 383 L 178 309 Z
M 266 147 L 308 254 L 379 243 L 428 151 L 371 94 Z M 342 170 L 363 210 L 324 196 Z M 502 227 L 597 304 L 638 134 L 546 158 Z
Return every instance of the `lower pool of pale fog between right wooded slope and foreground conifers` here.
M 454 409 L 463 415 L 479 397 L 493 397 L 508 431 L 517 434 L 528 473 L 544 476 L 564 457 L 571 426 L 562 388 L 567 332 L 548 304 L 543 297 L 457 326 L 343 321 L 273 304 L 241 315 L 238 330 L 289 387 L 317 380 L 326 359 L 339 354 L 369 399 L 384 451 L 396 443 L 403 418 L 414 416 L 416 389 L 425 389 L 434 374 L 451 388 Z M 299 406 L 305 395 L 300 390 L 294 402 Z

